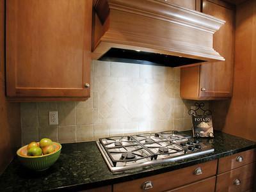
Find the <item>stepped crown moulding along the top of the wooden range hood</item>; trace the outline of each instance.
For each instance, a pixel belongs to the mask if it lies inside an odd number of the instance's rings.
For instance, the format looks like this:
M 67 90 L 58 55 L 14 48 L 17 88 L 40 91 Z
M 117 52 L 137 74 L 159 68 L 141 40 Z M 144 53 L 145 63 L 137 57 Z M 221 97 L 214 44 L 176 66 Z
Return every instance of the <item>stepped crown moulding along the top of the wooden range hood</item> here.
M 118 4 L 121 1 L 122 4 Z M 159 12 L 159 8 L 157 9 L 156 6 L 142 6 L 141 1 L 136 1 L 136 3 L 132 4 L 130 1 L 121 1 L 110 0 L 109 8 L 113 10 L 122 10 L 129 13 L 136 13 L 138 15 L 147 15 L 147 17 L 173 22 L 175 24 L 184 25 L 189 28 L 196 28 L 198 30 L 207 31 L 208 33 L 212 34 L 218 31 L 218 29 L 220 29 L 220 27 L 225 24 L 225 20 L 212 17 L 211 15 L 207 15 L 205 13 L 196 12 L 195 10 L 189 10 L 181 6 L 165 2 L 164 0 L 149 0 L 155 4 L 163 5 L 164 2 L 165 5 L 169 5 L 161 6 L 162 11 L 163 8 L 168 8 L 168 10 L 163 12 Z

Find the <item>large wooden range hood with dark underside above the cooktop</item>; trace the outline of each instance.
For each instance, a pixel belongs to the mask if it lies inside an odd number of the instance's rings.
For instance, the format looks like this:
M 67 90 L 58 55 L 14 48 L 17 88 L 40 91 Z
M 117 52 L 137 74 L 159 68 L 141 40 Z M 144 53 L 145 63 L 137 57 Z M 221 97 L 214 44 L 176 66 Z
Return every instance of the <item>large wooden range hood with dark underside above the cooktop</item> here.
M 93 59 L 179 67 L 224 61 L 213 35 L 225 21 L 164 0 L 95 0 Z

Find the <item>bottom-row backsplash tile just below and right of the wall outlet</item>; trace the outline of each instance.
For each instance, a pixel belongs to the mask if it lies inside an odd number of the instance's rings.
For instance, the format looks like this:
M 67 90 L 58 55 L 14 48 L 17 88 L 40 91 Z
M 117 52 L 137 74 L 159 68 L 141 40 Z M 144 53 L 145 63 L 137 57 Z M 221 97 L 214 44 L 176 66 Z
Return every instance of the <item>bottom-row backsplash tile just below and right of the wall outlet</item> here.
M 60 143 L 76 142 L 76 126 L 58 126 L 58 138 Z

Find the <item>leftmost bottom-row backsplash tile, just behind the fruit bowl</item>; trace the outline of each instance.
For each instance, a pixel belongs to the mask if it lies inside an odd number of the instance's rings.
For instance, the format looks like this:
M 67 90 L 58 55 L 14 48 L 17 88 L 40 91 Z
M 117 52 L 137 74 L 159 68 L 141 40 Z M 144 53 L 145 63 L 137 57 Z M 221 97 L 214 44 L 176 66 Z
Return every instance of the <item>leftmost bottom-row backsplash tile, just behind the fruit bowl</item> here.
M 23 126 L 22 125 L 22 145 L 27 145 L 32 141 L 39 141 L 38 126 Z

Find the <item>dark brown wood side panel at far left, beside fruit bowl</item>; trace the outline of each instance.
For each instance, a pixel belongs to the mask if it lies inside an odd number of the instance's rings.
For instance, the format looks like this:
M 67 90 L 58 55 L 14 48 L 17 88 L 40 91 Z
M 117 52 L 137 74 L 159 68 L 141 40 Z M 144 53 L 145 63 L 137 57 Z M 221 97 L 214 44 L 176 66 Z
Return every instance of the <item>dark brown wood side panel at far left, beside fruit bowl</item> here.
M 0 175 L 20 147 L 20 104 L 5 97 L 4 0 L 0 0 Z

